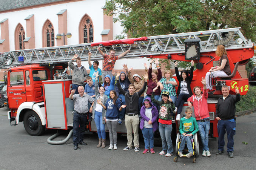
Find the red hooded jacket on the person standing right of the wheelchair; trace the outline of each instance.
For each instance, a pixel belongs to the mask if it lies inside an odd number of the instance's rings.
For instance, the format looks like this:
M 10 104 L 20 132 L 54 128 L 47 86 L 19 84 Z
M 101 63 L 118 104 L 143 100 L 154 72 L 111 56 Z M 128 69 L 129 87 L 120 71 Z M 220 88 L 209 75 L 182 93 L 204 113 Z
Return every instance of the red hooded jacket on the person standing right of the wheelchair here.
M 197 120 L 210 117 L 208 104 L 207 104 L 208 92 L 207 89 L 203 90 L 202 98 L 197 99 L 196 95 L 192 95 L 188 98 L 188 101 L 193 103 L 194 113 Z

